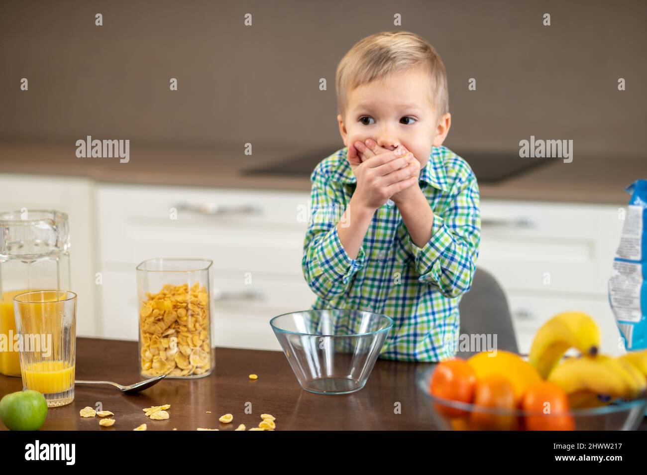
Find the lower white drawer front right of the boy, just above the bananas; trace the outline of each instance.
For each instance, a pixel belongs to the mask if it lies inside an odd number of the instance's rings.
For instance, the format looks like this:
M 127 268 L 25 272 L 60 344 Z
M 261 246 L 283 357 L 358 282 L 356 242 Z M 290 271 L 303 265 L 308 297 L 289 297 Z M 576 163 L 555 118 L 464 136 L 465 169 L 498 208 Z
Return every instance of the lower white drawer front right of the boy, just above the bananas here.
M 557 296 L 529 296 L 509 293 L 508 304 L 512 324 L 521 353 L 528 353 L 537 330 L 549 318 L 565 311 L 582 311 L 591 315 L 600 327 L 602 353 L 620 355 L 620 332 L 609 303 L 603 299 Z

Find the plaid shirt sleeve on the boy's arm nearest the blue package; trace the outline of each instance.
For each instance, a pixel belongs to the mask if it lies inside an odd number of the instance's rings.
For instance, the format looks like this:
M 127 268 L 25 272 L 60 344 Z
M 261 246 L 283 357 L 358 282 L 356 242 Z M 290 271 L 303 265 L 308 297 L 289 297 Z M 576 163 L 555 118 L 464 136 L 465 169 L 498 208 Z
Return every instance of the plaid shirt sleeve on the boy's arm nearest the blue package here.
M 481 242 L 479 188 L 469 167 L 457 179 L 442 216 L 434 212 L 432 237 L 420 248 L 406 234 L 406 249 L 413 255 L 418 282 L 439 288 L 446 297 L 457 297 L 472 287 Z

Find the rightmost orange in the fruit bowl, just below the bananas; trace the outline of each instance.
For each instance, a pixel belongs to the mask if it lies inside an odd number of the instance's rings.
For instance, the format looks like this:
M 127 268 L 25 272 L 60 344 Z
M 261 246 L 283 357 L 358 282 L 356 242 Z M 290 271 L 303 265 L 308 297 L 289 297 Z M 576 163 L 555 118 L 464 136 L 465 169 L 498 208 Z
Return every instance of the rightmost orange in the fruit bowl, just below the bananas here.
M 525 416 L 527 430 L 575 430 L 575 419 L 573 415 L 567 414 L 570 410 L 568 397 L 553 382 L 542 381 L 528 388 L 523 395 L 521 408 L 543 413 Z

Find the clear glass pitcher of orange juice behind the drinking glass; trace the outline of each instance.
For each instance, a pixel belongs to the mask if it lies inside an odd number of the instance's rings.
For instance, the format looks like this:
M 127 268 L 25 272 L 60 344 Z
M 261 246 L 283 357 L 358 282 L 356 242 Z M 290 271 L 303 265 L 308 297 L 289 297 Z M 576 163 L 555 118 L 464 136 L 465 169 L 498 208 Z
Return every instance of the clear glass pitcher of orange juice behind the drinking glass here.
M 0 212 L 1 374 L 21 375 L 14 296 L 33 290 L 69 290 L 69 247 L 67 214 L 27 208 Z

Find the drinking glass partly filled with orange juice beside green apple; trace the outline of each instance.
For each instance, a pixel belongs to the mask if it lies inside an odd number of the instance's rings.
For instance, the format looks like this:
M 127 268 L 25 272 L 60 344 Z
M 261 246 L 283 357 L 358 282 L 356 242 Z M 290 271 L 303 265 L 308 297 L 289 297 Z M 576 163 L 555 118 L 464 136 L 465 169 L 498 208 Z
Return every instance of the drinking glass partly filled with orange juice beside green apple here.
M 30 291 L 14 297 L 23 389 L 43 393 L 47 406 L 74 400 L 76 294 Z

